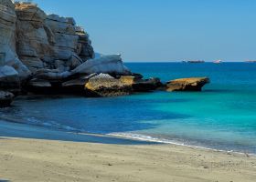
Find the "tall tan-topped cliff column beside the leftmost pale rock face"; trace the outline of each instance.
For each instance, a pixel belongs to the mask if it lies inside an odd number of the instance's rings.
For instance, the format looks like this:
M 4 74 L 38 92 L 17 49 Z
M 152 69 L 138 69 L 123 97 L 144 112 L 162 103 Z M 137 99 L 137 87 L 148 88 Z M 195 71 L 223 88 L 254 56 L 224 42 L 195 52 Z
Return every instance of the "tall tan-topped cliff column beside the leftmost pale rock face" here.
M 24 65 L 33 73 L 44 67 L 53 51 L 45 31 L 47 15 L 34 4 L 16 3 L 16 50 Z

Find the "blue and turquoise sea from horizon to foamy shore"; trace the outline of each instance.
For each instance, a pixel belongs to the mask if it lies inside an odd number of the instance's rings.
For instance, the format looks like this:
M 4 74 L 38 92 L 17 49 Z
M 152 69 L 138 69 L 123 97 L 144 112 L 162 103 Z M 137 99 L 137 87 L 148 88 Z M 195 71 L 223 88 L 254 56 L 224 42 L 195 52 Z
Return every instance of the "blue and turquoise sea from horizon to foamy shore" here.
M 126 64 L 163 81 L 209 76 L 203 92 L 110 98 L 19 98 L 0 118 L 91 133 L 129 136 L 256 154 L 256 64 Z

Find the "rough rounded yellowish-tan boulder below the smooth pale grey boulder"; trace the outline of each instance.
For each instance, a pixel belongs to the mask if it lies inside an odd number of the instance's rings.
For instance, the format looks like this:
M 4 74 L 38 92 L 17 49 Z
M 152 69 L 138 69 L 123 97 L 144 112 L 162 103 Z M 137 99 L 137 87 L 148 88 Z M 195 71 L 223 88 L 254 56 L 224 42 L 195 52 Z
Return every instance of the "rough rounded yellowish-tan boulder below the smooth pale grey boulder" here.
M 132 86 L 107 74 L 100 74 L 89 79 L 85 85 L 87 96 L 123 96 L 133 92 Z

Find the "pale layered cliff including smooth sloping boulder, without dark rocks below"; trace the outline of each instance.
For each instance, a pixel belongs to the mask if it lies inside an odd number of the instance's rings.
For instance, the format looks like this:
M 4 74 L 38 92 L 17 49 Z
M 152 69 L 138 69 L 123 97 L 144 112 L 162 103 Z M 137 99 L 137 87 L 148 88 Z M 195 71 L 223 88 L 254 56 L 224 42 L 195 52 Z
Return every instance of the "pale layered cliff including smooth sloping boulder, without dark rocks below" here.
M 131 74 L 119 55 L 94 59 L 89 35 L 72 17 L 47 15 L 32 3 L 0 0 L 0 89 L 31 83 L 60 86 L 93 72 Z

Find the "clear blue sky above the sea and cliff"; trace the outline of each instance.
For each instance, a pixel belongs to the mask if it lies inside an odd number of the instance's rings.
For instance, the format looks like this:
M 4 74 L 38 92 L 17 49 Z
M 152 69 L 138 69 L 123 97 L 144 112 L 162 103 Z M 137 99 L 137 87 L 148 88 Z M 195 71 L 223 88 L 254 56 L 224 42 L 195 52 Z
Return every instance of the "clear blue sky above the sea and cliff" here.
M 34 0 L 129 61 L 256 59 L 256 0 Z

